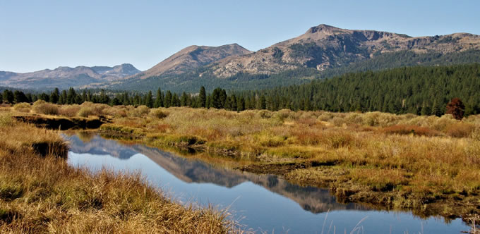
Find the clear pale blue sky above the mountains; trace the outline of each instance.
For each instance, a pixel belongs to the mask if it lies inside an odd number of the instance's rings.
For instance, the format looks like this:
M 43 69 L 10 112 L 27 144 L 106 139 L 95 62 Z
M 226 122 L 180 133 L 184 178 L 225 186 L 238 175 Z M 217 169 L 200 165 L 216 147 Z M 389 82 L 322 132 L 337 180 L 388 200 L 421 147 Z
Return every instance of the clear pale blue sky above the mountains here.
M 411 36 L 480 35 L 480 1 L 0 0 L 0 70 L 132 63 L 146 70 L 192 44 L 256 51 L 325 23 Z

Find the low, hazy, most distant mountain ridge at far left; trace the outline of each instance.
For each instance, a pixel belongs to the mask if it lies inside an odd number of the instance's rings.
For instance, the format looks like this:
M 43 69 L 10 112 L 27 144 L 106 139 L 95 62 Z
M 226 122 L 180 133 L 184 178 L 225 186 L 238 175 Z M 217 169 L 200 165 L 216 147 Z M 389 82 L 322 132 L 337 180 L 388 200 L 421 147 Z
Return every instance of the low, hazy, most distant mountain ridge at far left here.
M 139 72 L 140 70 L 128 63 L 114 67 L 59 67 L 54 70 L 45 69 L 32 73 L 0 71 L 0 86 L 33 90 L 46 90 L 54 87 L 68 89 L 68 87 L 81 87 L 94 83 L 112 82 L 129 75 L 135 75 Z

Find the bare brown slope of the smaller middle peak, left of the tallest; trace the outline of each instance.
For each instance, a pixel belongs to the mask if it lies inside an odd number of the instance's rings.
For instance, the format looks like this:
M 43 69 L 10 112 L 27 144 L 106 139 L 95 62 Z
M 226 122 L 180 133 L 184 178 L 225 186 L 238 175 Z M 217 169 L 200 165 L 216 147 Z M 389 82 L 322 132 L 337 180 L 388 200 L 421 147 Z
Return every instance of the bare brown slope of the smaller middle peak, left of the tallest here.
M 250 53 L 251 51 L 239 46 L 239 44 L 227 44 L 221 47 L 186 47 L 136 77 L 149 78 L 158 75 L 179 75 L 222 58 L 242 56 Z

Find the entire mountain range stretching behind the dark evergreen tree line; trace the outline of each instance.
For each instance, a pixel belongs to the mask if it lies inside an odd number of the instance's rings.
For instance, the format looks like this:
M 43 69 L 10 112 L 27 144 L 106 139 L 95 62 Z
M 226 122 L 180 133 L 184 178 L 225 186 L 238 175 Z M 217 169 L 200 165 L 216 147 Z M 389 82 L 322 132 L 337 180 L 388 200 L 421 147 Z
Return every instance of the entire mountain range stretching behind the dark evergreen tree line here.
M 0 72 L 0 85 L 58 87 L 57 83 L 60 82 L 61 87 L 115 90 L 145 91 L 161 87 L 162 90 L 175 92 L 197 92 L 201 85 L 208 90 L 215 87 L 253 90 L 364 70 L 476 62 L 480 62 L 479 35 L 455 33 L 409 37 L 393 32 L 346 30 L 318 25 L 299 37 L 253 52 L 238 44 L 191 46 L 141 73 L 133 66 L 128 69 L 129 73 L 123 72 L 122 75 L 101 73 L 100 67 L 90 68 L 90 72 L 85 70 L 87 67 L 70 68 L 83 68 L 83 71 L 72 71 L 74 75 L 68 75 L 68 78 L 57 73 L 15 75 Z M 37 73 L 44 74 L 44 71 Z

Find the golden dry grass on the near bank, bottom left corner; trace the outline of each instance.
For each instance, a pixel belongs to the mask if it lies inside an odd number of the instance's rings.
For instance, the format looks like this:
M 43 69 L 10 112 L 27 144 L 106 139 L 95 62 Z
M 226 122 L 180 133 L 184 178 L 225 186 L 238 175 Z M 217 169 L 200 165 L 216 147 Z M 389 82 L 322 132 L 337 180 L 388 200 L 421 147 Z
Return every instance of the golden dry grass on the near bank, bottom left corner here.
M 183 206 L 136 175 L 68 166 L 53 130 L 0 111 L 0 233 L 229 233 L 225 212 Z

